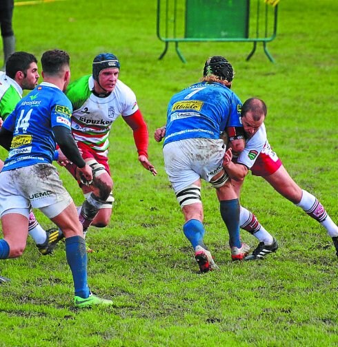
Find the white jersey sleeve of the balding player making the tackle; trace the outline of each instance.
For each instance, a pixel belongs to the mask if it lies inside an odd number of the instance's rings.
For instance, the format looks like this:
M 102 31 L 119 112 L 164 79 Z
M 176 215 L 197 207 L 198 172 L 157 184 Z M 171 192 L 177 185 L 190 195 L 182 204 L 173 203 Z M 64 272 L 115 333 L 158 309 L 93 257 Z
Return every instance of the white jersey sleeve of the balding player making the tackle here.
M 244 147 L 241 154 L 237 158 L 237 163 L 246 165 L 250 169 L 257 160 L 259 154 L 264 149 L 266 145 L 267 136 L 264 123 L 259 127 L 257 133 L 246 141 L 246 146 Z

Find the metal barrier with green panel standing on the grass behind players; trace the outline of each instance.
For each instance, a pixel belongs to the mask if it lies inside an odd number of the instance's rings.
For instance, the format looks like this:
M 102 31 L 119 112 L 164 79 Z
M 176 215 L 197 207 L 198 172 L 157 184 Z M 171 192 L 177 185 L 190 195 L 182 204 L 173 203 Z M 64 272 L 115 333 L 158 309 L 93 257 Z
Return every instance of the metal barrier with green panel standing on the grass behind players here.
M 179 42 L 238 41 L 252 42 L 248 61 L 257 43 L 263 43 L 268 59 L 267 43 L 277 34 L 278 6 L 264 0 L 157 0 L 157 36 L 165 43 L 159 59 L 166 55 L 170 42 L 183 63 Z

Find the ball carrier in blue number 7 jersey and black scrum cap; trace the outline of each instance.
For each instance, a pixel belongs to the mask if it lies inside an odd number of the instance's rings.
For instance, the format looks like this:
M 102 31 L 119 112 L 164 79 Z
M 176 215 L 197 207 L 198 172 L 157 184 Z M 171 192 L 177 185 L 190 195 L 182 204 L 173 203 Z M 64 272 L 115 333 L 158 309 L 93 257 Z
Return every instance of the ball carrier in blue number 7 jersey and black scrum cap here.
M 250 251 L 239 238 L 239 199 L 222 166 L 226 148 L 221 132 L 230 138 L 229 151 L 239 153 L 244 148 L 241 101 L 230 90 L 233 77 L 232 65 L 223 56 L 212 56 L 204 65 L 201 82 L 172 96 L 166 127 L 155 132 L 158 142 L 164 137 L 166 173 L 186 221 L 183 233 L 202 273 L 217 265 L 203 242 L 201 179 L 217 191 L 232 260 L 242 260 Z

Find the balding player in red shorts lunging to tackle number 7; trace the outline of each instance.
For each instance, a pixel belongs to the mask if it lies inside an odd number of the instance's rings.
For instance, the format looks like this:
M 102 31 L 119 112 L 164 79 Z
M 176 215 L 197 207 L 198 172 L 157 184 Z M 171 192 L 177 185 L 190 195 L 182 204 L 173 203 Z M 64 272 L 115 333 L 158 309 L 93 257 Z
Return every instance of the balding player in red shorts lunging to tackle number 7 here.
M 235 179 L 235 182 L 240 179 L 236 185 L 238 193 L 249 170 L 252 175 L 263 177 L 281 196 L 301 207 L 311 218 L 326 228 L 338 256 L 337 225 L 332 222 L 319 200 L 292 180 L 277 154 L 272 151 L 264 126 L 266 114 L 266 104 L 258 98 L 250 98 L 243 104 L 241 119 L 246 133 L 246 147 L 235 161 L 231 160 L 232 155 L 227 152 L 223 161 L 226 172 Z M 265 255 L 277 251 L 278 244 L 275 238 L 261 226 L 256 216 L 244 207 L 241 207 L 240 224 L 242 229 L 249 231 L 259 240 L 257 248 L 251 255 L 245 257 L 245 260 L 262 259 Z

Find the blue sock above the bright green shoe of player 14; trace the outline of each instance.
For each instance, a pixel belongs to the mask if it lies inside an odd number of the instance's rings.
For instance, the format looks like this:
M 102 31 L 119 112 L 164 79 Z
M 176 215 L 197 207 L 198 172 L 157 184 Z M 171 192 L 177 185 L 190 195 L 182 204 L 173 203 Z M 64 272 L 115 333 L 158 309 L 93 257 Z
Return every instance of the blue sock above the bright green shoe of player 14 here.
M 90 291 L 87 284 L 86 242 L 81 236 L 66 238 L 66 257 L 72 271 L 75 295 L 86 298 Z

